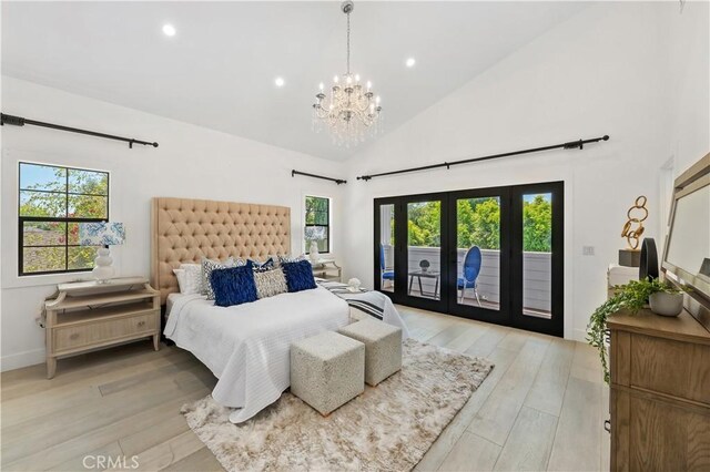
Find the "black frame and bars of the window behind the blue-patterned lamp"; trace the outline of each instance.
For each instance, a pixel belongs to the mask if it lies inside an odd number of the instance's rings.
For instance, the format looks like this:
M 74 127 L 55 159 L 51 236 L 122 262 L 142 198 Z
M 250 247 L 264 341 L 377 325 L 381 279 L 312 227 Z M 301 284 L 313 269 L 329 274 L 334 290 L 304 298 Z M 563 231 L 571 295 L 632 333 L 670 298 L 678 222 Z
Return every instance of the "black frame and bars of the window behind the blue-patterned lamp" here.
M 65 171 L 65 192 L 55 192 L 55 191 L 38 191 L 33 188 L 22 188 L 22 164 L 27 165 L 41 165 L 45 167 L 55 167 Z M 80 171 L 80 172 L 93 172 L 98 174 L 105 174 L 106 176 L 106 194 L 98 195 L 98 194 L 84 194 L 79 192 L 69 192 L 69 171 Z M 60 194 L 65 196 L 65 208 L 69 211 L 69 196 L 70 195 L 79 195 L 79 196 L 99 196 L 106 198 L 106 215 L 105 218 L 77 218 L 77 217 L 55 217 L 55 216 L 22 216 L 20 214 L 22 207 L 21 194 L 22 192 L 37 192 L 37 193 L 48 193 L 48 194 Z M 79 244 L 69 244 L 69 226 L 71 223 L 108 223 L 109 214 L 111 207 L 111 173 L 109 171 L 97 171 L 93 168 L 82 168 L 82 167 L 72 167 L 67 165 L 55 165 L 55 164 L 45 164 L 30 161 L 19 161 L 18 162 L 18 276 L 19 277 L 31 277 L 39 275 L 52 275 L 52 274 L 75 274 L 75 273 L 88 273 L 91 271 L 92 268 L 80 268 L 80 269 L 70 269 L 69 268 L 69 248 L 70 247 L 82 247 Z M 68 214 L 68 213 L 67 213 Z M 64 224 L 64 244 L 63 245 L 37 245 L 37 246 L 26 246 L 24 245 L 24 223 L 63 223 Z M 24 248 L 27 247 L 63 247 L 64 248 L 64 269 L 63 270 L 42 270 L 42 271 L 24 271 Z M 105 246 L 104 246 L 105 247 Z

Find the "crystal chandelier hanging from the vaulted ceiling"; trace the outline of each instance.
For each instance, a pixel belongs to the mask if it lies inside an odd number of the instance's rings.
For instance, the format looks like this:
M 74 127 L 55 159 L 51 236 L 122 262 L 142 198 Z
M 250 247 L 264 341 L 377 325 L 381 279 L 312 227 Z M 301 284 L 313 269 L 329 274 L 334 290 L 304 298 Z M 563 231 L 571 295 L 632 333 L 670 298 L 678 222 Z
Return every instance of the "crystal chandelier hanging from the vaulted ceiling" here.
M 327 127 L 333 142 L 349 147 L 366 135 L 374 136 L 382 131 L 382 106 L 375 96 L 372 82 L 363 86 L 358 74 L 351 73 L 351 13 L 354 4 L 344 1 L 341 10 L 347 16 L 347 69 L 345 74 L 335 75 L 329 94 L 321 82 L 317 101 L 313 104 L 313 125 L 316 132 Z

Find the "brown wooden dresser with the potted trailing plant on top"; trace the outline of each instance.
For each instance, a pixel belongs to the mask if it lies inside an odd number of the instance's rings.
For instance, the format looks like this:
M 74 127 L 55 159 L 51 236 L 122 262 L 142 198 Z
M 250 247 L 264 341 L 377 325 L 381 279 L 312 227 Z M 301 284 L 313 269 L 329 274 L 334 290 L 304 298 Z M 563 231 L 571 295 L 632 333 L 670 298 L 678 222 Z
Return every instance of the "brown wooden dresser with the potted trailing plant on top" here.
M 710 332 L 690 314 L 609 317 L 612 471 L 710 471 Z

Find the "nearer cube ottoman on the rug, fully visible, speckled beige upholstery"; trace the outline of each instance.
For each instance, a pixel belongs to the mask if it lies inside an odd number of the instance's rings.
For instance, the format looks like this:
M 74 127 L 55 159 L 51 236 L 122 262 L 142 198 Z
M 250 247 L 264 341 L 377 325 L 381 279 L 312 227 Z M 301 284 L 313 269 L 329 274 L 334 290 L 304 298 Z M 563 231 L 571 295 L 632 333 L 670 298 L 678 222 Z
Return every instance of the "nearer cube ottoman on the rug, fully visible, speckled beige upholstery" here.
M 291 392 L 326 415 L 365 391 L 365 345 L 326 331 L 291 345 Z

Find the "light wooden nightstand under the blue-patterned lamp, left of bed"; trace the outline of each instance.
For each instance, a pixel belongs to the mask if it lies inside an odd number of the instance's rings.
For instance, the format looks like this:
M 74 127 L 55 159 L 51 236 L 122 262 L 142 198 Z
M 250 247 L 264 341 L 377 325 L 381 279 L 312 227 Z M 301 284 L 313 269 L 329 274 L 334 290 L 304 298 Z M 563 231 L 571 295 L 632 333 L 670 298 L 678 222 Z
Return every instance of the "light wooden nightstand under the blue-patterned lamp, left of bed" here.
M 160 293 L 146 278 L 59 284 L 57 290 L 44 302 L 48 379 L 59 357 L 148 337 L 160 349 Z

